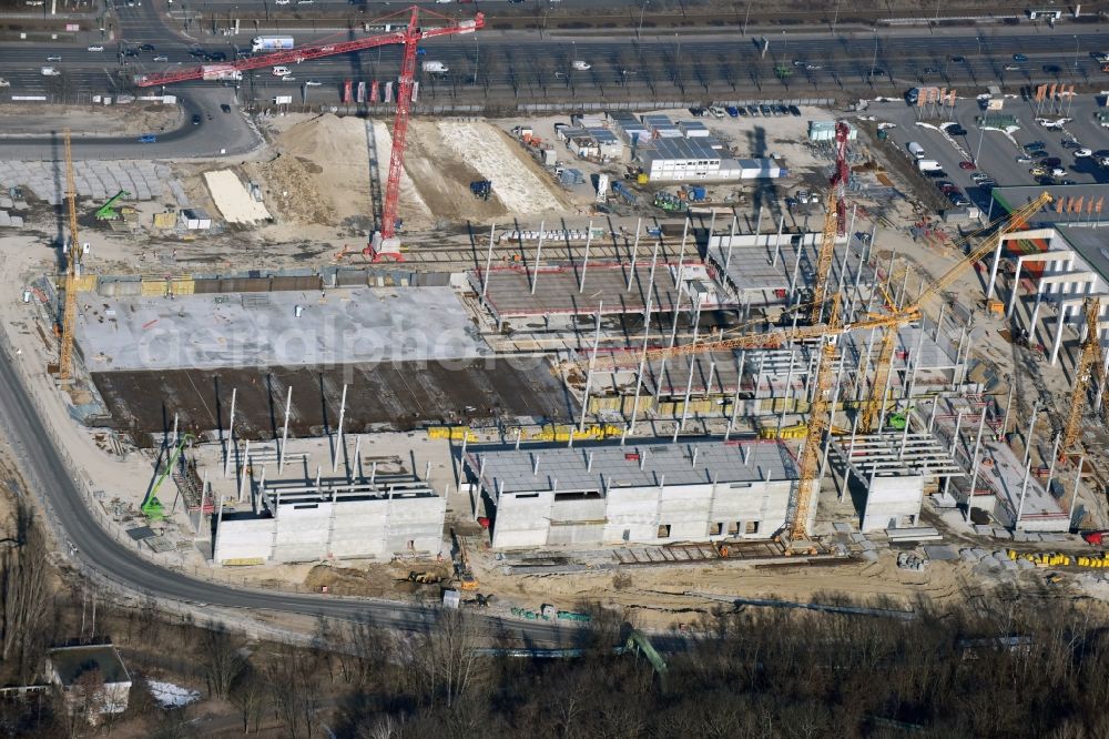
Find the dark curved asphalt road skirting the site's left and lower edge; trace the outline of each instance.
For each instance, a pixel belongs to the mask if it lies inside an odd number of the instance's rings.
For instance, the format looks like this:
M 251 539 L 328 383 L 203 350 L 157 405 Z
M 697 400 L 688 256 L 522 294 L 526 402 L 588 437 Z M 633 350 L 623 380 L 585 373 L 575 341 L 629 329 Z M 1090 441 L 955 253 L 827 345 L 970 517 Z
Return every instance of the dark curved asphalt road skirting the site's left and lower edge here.
M 159 567 L 118 543 L 93 519 L 88 502 L 73 483 L 72 474 L 54 448 L 19 372 L 7 348 L 0 351 L 0 426 L 7 429 L 20 469 L 30 490 L 41 496 L 85 570 L 92 570 L 125 588 L 155 598 L 204 607 L 367 619 L 384 627 L 418 630 L 434 624 L 436 611 L 417 606 L 380 600 L 339 600 L 326 596 L 292 595 L 248 589 L 196 579 Z M 503 632 L 518 644 L 559 644 L 573 639 L 573 628 L 546 622 L 513 622 L 480 617 L 489 632 Z

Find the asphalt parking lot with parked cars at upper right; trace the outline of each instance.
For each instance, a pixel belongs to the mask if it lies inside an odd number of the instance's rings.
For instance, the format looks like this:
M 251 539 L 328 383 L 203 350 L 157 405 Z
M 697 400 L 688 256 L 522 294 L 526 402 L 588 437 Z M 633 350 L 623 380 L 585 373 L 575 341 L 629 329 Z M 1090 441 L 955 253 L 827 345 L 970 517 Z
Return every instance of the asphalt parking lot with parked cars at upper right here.
M 908 152 L 908 144 L 916 142 L 924 149 L 924 159 L 935 160 L 944 171 L 939 178 L 926 178 L 920 175 L 922 181 L 932 182 L 947 181 L 954 183 L 966 193 L 967 198 L 976 205 L 987 211 L 989 207 L 988 189 L 980 188 L 973 176 L 976 173 L 988 174 L 997 185 L 1031 185 L 1037 184 L 1038 179 L 1045 175 L 1032 173 L 1044 158 L 1059 160 L 1058 168 L 1062 173 L 1051 178 L 1055 184 L 1062 183 L 1106 183 L 1109 182 L 1109 169 L 1098 164 L 1097 156 L 1076 158 L 1075 151 L 1078 145 L 1090 149 L 1092 152 L 1109 150 L 1109 129 L 1098 125 L 1096 113 L 1105 108 L 1099 108 L 1098 98 L 1093 95 L 1076 95 L 1069 111 L 1064 108 L 1060 113 L 1047 113 L 1040 111 L 1037 114 L 1036 104 L 1031 101 L 1024 101 L 1019 98 L 1006 98 L 1005 108 L 1001 111 L 989 111 L 1004 115 L 1013 115 L 1017 119 L 1019 129 L 1011 134 L 1003 131 L 981 130 L 977 120 L 987 111 L 984 111 L 975 100 L 962 100 L 955 108 L 954 117 L 948 110 L 944 119 L 926 117 L 919 120 L 919 111 L 910 108 L 904 102 L 888 102 L 872 105 L 867 111 L 873 114 L 878 122 L 886 121 L 895 123 L 896 126 L 887 129 L 888 143 L 892 148 L 898 149 L 899 155 L 909 160 L 913 154 Z M 1068 114 L 1069 112 L 1069 114 Z M 1036 122 L 1037 118 L 1059 119 L 1070 118 L 1064 123 L 1061 129 L 1048 129 Z M 952 131 L 962 128 L 965 134 L 952 135 Z M 1064 146 L 1064 141 L 1075 140 L 1078 145 L 1071 148 Z M 1042 144 L 1042 153 L 1029 154 L 1022 148 L 1027 144 L 1039 142 Z M 1018 161 L 1027 159 L 1030 161 Z M 960 162 L 973 161 L 974 170 L 960 169 Z M 1050 176 L 1051 166 L 1045 168 L 1047 176 Z M 1050 184 L 1048 180 L 1039 180 L 1040 184 Z

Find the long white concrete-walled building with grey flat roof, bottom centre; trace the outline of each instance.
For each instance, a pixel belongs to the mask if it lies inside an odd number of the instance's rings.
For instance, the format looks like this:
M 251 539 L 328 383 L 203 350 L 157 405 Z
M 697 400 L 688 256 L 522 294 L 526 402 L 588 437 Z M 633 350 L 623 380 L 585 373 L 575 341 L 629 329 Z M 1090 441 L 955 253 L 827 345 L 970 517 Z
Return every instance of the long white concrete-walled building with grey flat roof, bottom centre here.
M 797 485 L 785 444 L 750 439 L 470 447 L 464 469 L 499 549 L 766 539 Z

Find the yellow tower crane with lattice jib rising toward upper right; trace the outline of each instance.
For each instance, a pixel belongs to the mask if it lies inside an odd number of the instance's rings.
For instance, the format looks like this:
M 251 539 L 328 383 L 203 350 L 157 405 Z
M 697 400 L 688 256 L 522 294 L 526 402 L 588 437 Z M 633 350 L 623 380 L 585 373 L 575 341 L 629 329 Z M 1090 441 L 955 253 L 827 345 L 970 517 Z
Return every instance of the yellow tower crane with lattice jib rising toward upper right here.
M 1050 203 L 1051 200 L 1051 195 L 1047 192 L 1040 193 L 1039 198 L 1025 203 L 1009 215 L 999 219 L 997 229 L 993 235 L 983 240 L 978 246 L 971 249 L 966 256 L 952 265 L 947 272 L 926 285 L 913 304 L 898 308 L 892 304 L 887 295 L 886 307 L 891 311 L 888 315 L 894 318 L 894 322 L 889 324 L 889 327 L 882 336 L 878 360 L 874 365 L 871 396 L 863 406 L 858 417 L 858 431 L 861 433 L 868 434 L 874 431 L 874 424 L 878 419 L 882 407 L 886 402 L 886 382 L 893 368 L 894 348 L 897 344 L 897 328 L 918 321 L 922 315 L 922 305 L 925 301 L 955 282 L 965 269 L 996 250 L 1005 234 L 1022 229 L 1028 222 L 1028 217 Z

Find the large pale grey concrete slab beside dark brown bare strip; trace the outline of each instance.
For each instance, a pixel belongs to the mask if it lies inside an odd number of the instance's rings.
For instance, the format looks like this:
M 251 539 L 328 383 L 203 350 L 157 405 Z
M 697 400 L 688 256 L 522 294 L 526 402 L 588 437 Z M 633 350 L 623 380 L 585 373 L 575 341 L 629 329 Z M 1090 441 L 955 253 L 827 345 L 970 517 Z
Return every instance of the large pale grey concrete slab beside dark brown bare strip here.
M 82 296 L 80 303 L 77 341 L 90 372 L 492 355 L 450 287 L 214 293 L 172 298 L 90 295 Z

